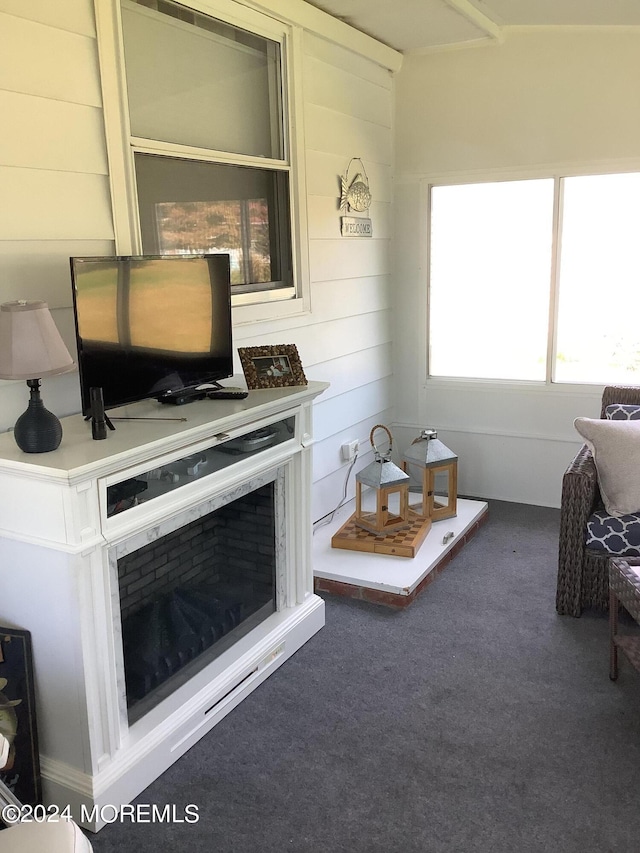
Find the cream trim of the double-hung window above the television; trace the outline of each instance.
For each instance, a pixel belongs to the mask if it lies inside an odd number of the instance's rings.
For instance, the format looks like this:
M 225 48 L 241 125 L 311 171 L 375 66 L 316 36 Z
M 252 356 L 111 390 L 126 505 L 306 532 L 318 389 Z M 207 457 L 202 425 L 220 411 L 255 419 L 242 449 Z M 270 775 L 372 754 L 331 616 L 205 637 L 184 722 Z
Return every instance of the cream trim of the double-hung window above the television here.
M 305 144 L 302 95 L 302 30 L 279 24 L 234 0 L 187 0 L 190 8 L 278 41 L 282 50 L 283 110 L 286 121 L 285 156 L 290 174 L 291 253 L 294 288 L 266 290 L 257 294 L 232 296 L 234 325 L 281 320 L 309 313 L 310 272 L 309 241 L 304 168 Z M 137 191 L 133 156 L 135 151 L 149 151 L 149 140 L 131 135 L 124 76 L 124 47 L 119 0 L 94 0 L 103 117 L 116 254 L 141 254 Z M 169 146 L 167 146 L 169 149 Z M 196 149 L 194 149 L 195 153 Z M 211 152 L 209 152 L 211 154 Z M 230 162 L 238 163 L 242 157 Z M 223 162 L 223 160 L 218 160 Z M 263 162 L 261 160 L 261 165 Z M 264 160 L 267 168 L 282 168 L 278 160 Z M 294 295 L 292 296 L 292 291 Z

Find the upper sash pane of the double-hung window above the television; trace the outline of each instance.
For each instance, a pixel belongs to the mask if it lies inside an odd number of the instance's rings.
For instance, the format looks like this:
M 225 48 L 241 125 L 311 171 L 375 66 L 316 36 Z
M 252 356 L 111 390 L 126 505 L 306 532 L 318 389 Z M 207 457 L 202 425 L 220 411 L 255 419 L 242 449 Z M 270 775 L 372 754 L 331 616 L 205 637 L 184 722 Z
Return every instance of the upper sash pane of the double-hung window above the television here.
M 133 136 L 283 158 L 277 42 L 167 0 L 124 0 L 122 29 Z

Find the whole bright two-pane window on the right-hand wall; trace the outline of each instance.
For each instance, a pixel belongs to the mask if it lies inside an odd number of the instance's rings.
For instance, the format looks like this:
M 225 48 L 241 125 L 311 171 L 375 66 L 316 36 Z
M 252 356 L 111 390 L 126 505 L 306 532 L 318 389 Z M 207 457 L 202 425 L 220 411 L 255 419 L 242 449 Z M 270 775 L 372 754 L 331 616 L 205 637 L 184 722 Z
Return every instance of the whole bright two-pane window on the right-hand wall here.
M 640 383 L 640 173 L 432 186 L 429 375 Z

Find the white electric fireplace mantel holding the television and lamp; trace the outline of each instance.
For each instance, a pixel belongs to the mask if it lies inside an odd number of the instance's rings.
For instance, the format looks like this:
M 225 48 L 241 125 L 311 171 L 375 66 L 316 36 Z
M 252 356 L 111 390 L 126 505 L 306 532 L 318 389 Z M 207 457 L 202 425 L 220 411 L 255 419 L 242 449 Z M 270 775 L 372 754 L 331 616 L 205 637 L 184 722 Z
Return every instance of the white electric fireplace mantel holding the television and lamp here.
M 310 492 L 312 403 L 327 387 L 177 407 L 140 402 L 110 413 L 116 429 L 103 441 L 73 415 L 51 453 L 23 453 L 10 433 L 0 436 L 0 623 L 31 633 L 46 804 L 69 805 L 78 822 L 99 829 L 103 807 L 138 796 L 323 626 Z M 114 483 L 285 419 L 295 426 L 280 443 L 108 514 Z M 113 554 L 269 478 L 283 495 L 276 612 L 128 724 Z

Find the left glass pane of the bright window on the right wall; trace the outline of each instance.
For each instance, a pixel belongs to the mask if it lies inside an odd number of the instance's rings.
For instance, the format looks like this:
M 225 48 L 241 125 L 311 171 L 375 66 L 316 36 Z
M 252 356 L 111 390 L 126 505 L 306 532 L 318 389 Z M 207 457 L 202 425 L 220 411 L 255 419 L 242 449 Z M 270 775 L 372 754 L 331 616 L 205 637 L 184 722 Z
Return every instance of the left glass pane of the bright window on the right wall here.
M 545 380 L 552 219 L 552 179 L 432 188 L 432 376 Z

